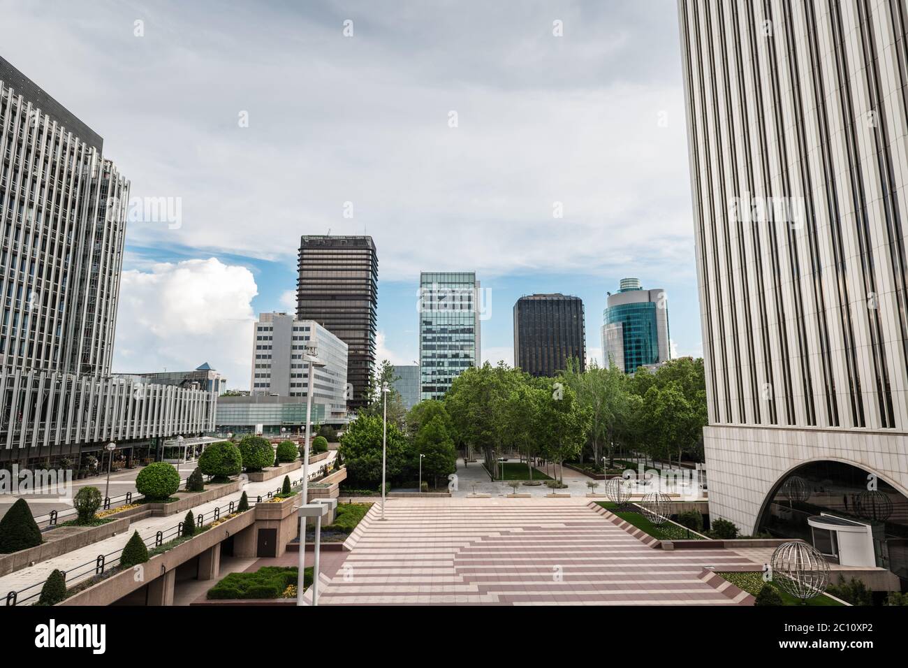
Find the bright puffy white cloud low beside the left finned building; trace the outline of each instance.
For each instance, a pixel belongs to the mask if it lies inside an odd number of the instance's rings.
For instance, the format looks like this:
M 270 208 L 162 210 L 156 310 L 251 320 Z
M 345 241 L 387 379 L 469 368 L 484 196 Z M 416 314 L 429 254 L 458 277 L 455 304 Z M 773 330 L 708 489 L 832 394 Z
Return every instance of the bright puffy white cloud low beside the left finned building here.
M 202 362 L 248 388 L 252 354 L 249 269 L 216 258 L 123 272 L 114 371 L 186 371 Z

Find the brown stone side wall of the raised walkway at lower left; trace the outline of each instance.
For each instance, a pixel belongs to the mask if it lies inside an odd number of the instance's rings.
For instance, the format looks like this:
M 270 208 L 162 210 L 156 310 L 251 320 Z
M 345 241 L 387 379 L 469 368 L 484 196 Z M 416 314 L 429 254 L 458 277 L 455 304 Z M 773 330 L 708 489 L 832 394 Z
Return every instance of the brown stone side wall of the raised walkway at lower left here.
M 227 536 L 235 535 L 252 525 L 255 516 L 252 511 L 246 511 L 232 517 L 224 523 L 218 524 L 204 533 L 200 533 L 185 543 L 180 543 L 173 550 L 153 556 L 148 562 L 143 563 L 142 573 L 144 579 L 136 581 L 136 571 L 127 568 L 109 578 L 95 583 L 79 593 L 74 593 L 57 605 L 110 605 L 123 598 L 123 596 L 141 589 L 149 583 L 154 583 L 162 577 L 173 578 L 177 566 L 189 561 L 195 556 L 211 549 L 221 543 Z M 173 586 L 173 583 L 171 583 Z

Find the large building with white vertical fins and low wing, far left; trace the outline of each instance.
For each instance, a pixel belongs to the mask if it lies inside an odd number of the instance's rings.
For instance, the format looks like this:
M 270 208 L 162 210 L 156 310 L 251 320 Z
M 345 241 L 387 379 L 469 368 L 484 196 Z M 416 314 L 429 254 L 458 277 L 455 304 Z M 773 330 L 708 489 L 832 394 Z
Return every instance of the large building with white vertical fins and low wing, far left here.
M 216 395 L 111 374 L 129 182 L 103 146 L 0 58 L 0 461 L 213 428 Z

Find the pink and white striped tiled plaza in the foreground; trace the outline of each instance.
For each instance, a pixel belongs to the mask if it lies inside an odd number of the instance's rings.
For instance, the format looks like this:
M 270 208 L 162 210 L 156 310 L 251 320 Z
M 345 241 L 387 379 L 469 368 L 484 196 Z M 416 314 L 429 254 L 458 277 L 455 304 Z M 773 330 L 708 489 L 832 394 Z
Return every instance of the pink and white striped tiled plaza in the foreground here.
M 321 604 L 749 603 L 701 579 L 745 557 L 654 550 L 587 499 L 394 499 L 385 513 L 364 520 Z

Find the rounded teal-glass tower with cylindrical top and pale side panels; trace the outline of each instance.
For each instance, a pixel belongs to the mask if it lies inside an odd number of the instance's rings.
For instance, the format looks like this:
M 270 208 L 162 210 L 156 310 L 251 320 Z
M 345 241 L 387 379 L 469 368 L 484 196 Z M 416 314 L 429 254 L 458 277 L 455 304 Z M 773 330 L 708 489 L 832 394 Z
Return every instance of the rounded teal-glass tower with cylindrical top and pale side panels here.
M 644 290 L 638 278 L 622 278 L 617 293 L 608 294 L 602 314 L 604 364 L 626 374 L 671 359 L 668 301 L 661 288 Z

